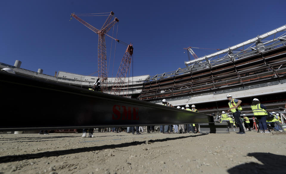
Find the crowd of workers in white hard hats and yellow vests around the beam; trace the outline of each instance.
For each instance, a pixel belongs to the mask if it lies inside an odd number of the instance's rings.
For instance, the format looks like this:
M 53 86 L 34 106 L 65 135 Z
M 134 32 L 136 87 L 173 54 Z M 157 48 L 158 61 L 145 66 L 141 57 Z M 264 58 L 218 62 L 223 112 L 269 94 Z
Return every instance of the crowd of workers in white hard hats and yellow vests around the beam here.
M 250 121 L 249 118 L 243 114 L 241 116 L 242 107 L 240 104 L 242 103 L 241 100 L 232 98 L 232 95 L 227 95 L 226 98 L 229 100 L 229 110 L 228 111 L 222 111 L 221 115 L 219 116 L 218 122 L 228 123 L 229 128 L 239 128 L 239 132 L 237 134 L 245 134 L 245 131 L 251 131 L 250 127 Z M 163 106 L 169 106 L 174 107 L 172 104 L 169 104 L 166 99 L 162 100 Z M 190 109 L 189 104 L 185 105 L 184 107 L 177 106 L 178 109 L 184 109 L 190 112 L 198 112 L 198 110 L 195 108 L 195 105 L 192 105 Z M 282 126 L 281 126 L 281 115 L 279 113 L 268 113 L 266 111 L 266 107 L 262 104 L 260 104 L 259 100 L 257 98 L 254 98 L 251 104 L 251 110 L 253 112 L 254 117 L 257 119 L 259 123 L 259 129 L 260 133 L 270 133 L 270 128 L 273 128 L 274 131 L 283 132 Z M 231 114 L 233 116 L 231 116 Z M 268 126 L 269 125 L 269 126 Z M 246 127 L 245 127 L 246 126 Z M 127 127 L 127 133 L 132 134 L 141 134 L 140 128 L 143 132 L 142 126 L 136 126 L 135 127 Z M 98 131 L 100 132 L 101 129 L 99 128 Z M 120 132 L 121 128 L 105 128 L 102 129 L 103 131 L 107 132 Z M 150 131 L 154 132 L 154 126 L 146 126 L 147 133 L 151 133 Z M 160 132 L 164 134 L 170 134 L 170 133 L 197 133 L 200 131 L 200 127 L 198 124 L 180 124 L 180 125 L 161 125 L 160 126 Z M 86 137 L 87 129 L 84 129 L 83 136 Z M 93 129 L 90 129 L 90 135 L 89 137 L 94 137 L 92 132 Z

